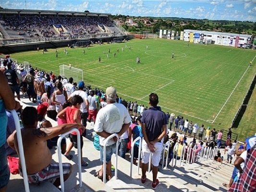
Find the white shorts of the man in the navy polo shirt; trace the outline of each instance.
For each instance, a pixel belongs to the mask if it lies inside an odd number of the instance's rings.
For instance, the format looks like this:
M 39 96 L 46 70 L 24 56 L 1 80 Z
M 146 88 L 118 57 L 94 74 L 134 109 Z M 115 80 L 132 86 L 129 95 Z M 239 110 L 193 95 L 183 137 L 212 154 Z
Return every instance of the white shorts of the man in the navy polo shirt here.
M 152 153 L 152 165 L 155 167 L 158 167 L 160 159 L 161 159 L 161 154 L 162 154 L 162 149 L 163 149 L 163 144 L 160 142 L 155 143 L 155 152 Z M 150 150 L 146 144 L 146 141 L 143 139 L 142 140 L 142 163 L 147 164 L 150 158 Z

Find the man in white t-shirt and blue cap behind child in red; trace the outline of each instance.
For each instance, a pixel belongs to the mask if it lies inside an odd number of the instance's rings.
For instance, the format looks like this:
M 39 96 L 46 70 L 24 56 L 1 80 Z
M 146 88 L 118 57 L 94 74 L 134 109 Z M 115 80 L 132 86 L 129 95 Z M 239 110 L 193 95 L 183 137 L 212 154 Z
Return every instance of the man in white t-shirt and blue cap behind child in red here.
M 68 100 L 70 100 L 73 96 L 81 96 L 84 100 L 84 102 L 81 104 L 80 111 L 81 111 L 81 123 L 85 127 L 85 132 L 83 132 L 83 136 L 86 136 L 86 122 L 87 122 L 87 117 L 88 117 L 88 108 L 89 108 L 89 103 L 88 103 L 88 96 L 87 93 L 85 93 L 84 88 L 85 88 L 85 83 L 83 81 L 80 81 L 77 84 L 79 90 L 74 91 L 69 97 Z

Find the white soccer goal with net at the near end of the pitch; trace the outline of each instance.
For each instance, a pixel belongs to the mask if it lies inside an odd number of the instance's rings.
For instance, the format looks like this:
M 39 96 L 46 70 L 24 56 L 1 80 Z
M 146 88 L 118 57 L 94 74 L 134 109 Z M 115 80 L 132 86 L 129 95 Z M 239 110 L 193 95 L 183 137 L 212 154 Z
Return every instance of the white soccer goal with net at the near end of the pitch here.
M 61 77 L 66 77 L 67 79 L 73 77 L 73 82 L 76 83 L 79 81 L 84 81 L 84 73 L 82 69 L 77 69 L 67 65 L 60 65 L 60 75 Z

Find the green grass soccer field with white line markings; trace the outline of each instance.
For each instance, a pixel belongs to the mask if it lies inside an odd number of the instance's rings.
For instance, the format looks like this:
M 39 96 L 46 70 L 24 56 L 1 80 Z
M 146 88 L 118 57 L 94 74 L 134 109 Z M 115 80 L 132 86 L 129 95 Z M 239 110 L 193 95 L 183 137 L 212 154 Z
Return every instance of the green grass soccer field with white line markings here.
M 163 111 L 217 130 L 231 125 L 256 73 L 255 66 L 249 66 L 250 60 L 255 65 L 256 52 L 241 48 L 133 39 L 120 44 L 95 45 L 88 50 L 66 49 L 67 56 L 64 48 L 58 48 L 58 58 L 55 49 L 48 49 L 45 54 L 36 50 L 13 53 L 12 58 L 28 61 L 34 68 L 54 74 L 59 74 L 60 65 L 71 63 L 84 70 L 85 84 L 103 90 L 114 86 L 119 97 L 146 106 L 149 106 L 148 95 L 155 92 Z M 171 59 L 172 52 L 174 59 Z M 136 63 L 137 57 L 140 64 Z

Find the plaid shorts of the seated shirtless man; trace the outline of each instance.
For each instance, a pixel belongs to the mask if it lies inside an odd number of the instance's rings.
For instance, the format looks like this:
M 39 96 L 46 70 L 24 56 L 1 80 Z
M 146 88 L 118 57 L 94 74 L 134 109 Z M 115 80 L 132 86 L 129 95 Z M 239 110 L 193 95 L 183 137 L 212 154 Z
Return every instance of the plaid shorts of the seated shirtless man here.
M 63 168 L 63 176 L 65 176 L 70 173 L 71 165 L 69 163 L 63 163 L 62 168 Z M 23 177 L 22 169 L 19 168 L 19 171 L 20 171 L 20 175 Z M 27 179 L 30 184 L 32 183 L 39 184 L 40 182 L 43 182 L 43 181 L 49 181 L 51 183 L 54 183 L 55 180 L 59 177 L 60 177 L 60 168 L 58 163 L 51 163 L 49 166 L 42 169 L 41 171 L 32 175 L 27 175 Z

